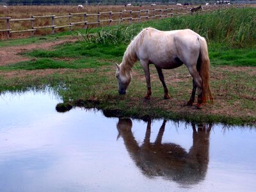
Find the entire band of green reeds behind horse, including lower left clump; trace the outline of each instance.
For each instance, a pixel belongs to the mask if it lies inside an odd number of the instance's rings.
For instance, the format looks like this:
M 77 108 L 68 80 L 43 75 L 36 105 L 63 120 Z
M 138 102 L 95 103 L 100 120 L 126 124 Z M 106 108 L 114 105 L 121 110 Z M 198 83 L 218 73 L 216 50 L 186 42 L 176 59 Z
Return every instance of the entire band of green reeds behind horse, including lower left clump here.
M 228 47 L 253 47 L 256 45 L 256 8 L 230 8 L 198 15 L 185 15 L 170 19 L 153 20 L 132 26 L 99 29 L 79 33 L 80 40 L 96 44 L 129 44 L 132 37 L 148 26 L 168 31 L 192 29 L 208 42 L 217 42 Z

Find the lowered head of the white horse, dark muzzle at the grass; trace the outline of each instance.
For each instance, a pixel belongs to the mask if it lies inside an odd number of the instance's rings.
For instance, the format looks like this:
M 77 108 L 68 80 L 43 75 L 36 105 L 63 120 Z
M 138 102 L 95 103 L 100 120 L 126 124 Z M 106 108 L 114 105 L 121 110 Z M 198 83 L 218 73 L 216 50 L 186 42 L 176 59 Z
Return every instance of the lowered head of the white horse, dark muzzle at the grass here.
M 120 95 L 125 95 L 126 89 L 131 82 L 131 73 L 122 72 L 121 65 L 116 63 L 116 78 L 118 81 L 118 93 Z

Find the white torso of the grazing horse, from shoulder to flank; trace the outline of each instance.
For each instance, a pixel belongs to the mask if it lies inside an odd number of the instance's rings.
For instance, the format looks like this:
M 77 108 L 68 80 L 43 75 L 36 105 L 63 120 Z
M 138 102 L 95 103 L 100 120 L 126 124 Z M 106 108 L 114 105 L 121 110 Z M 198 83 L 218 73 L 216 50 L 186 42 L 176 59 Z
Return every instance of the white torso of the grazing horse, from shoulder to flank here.
M 190 29 L 159 31 L 146 28 L 141 31 L 138 58 L 160 68 L 179 67 L 188 56 L 199 52 L 198 36 Z

